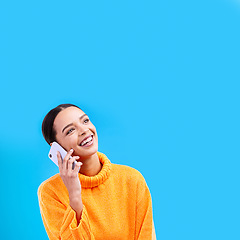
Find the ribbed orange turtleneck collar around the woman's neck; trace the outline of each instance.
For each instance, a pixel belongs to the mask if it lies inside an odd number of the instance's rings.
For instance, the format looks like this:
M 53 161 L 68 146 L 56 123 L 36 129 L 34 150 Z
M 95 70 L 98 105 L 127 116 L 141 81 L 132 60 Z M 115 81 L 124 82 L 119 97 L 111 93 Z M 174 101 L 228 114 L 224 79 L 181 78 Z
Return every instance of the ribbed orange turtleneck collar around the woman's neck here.
M 107 180 L 110 175 L 110 172 L 111 172 L 110 160 L 103 153 L 97 152 L 97 155 L 98 155 L 100 162 L 102 163 L 102 169 L 97 175 L 95 175 L 93 177 L 88 177 L 86 175 L 79 173 L 81 186 L 83 188 L 97 187 L 100 184 L 102 184 L 105 180 Z

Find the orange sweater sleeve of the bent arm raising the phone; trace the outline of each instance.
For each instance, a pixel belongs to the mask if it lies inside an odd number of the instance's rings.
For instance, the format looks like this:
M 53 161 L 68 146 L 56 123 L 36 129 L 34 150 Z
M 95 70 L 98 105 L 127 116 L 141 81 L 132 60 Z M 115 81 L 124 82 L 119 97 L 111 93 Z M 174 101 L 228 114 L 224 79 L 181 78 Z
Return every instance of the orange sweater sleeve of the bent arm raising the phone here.
M 70 205 L 63 204 L 51 189 L 41 185 L 38 198 L 43 224 L 50 240 L 95 240 L 85 206 L 77 225 L 75 211 Z

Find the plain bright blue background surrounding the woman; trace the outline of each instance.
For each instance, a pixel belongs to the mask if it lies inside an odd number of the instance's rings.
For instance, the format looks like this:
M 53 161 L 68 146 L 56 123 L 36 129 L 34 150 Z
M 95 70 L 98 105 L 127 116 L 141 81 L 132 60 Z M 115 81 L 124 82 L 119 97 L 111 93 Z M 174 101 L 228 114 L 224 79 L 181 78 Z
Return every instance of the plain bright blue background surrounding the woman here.
M 158 239 L 240 239 L 239 26 L 237 0 L 2 1 L 1 238 L 47 239 L 41 122 L 74 103 L 145 177 Z

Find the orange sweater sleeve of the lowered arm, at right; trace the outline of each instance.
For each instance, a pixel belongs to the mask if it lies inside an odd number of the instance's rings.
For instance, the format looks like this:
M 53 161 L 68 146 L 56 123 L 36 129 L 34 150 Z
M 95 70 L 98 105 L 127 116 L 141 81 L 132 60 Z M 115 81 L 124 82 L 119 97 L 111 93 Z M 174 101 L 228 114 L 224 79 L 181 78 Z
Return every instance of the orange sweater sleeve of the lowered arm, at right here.
M 138 201 L 136 205 L 136 237 L 138 240 L 152 240 L 153 214 L 151 194 L 145 180 L 138 183 Z

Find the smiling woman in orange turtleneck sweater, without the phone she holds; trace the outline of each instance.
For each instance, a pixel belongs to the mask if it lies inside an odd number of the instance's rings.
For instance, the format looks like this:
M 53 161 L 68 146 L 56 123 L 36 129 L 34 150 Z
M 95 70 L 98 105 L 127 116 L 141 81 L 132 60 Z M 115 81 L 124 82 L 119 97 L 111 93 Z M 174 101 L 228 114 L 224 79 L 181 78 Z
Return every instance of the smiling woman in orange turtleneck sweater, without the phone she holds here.
M 98 152 L 96 128 L 79 107 L 62 104 L 52 109 L 42 132 L 50 145 L 56 141 L 68 152 L 64 159 L 58 153 L 59 174 L 38 189 L 49 239 L 155 239 L 144 178 Z

